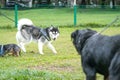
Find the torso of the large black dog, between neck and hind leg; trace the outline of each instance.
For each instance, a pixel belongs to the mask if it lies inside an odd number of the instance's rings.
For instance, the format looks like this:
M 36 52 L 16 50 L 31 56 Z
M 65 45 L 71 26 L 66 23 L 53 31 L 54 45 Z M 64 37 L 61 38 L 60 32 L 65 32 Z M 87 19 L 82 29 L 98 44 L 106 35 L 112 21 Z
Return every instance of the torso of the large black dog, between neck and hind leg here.
M 82 50 L 82 56 L 91 58 L 88 59 L 89 63 L 94 65 L 97 72 L 103 75 L 108 75 L 108 68 L 111 61 L 115 58 L 114 56 L 119 50 L 120 35 L 105 36 L 98 34 L 87 39 Z M 88 54 L 89 56 L 87 56 Z

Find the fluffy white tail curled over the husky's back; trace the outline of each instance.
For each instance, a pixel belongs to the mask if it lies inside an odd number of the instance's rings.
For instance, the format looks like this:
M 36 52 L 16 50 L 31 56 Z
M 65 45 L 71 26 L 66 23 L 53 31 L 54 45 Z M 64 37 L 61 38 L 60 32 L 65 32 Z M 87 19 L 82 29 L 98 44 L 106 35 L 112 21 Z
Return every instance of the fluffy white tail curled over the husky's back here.
M 18 21 L 17 29 L 21 30 L 24 25 L 32 26 L 33 22 L 30 19 L 22 18 Z

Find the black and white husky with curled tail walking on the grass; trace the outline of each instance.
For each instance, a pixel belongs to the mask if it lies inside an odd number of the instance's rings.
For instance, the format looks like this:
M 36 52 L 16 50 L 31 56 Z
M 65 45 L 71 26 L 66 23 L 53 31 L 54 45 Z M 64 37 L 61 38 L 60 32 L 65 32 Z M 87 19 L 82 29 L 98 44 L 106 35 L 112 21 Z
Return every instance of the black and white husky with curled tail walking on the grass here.
M 19 47 L 26 52 L 24 47 L 25 44 L 30 43 L 31 41 L 35 41 L 38 43 L 38 49 L 40 54 L 43 53 L 43 45 L 47 44 L 47 46 L 53 51 L 53 53 L 57 53 L 54 46 L 51 44 L 53 40 L 56 40 L 59 36 L 59 29 L 51 25 L 47 28 L 38 28 L 35 27 L 33 22 L 30 19 L 20 19 L 18 21 L 16 33 L 16 40 L 18 42 Z

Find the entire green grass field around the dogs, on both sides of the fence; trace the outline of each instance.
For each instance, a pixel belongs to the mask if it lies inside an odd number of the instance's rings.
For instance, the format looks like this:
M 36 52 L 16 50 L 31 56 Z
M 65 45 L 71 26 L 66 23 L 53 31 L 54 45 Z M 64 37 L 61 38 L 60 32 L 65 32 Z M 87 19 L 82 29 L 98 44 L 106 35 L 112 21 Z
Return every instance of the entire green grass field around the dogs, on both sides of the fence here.
M 19 18 L 26 17 L 33 20 L 37 26 L 60 26 L 60 36 L 53 42 L 58 53 L 55 55 L 44 46 L 44 55 L 38 53 L 37 43 L 26 45 L 27 53 L 19 57 L 6 55 L 0 58 L 0 80 L 85 80 L 82 71 L 80 56 L 76 52 L 70 38 L 71 32 L 76 29 L 91 28 L 100 32 L 103 27 L 98 26 L 110 23 L 119 15 L 119 10 L 78 10 L 78 24 L 73 27 L 72 9 L 32 9 L 19 11 Z M 6 11 L 13 18 L 14 11 Z M 34 15 L 34 16 L 33 16 Z M 39 16 L 39 17 L 38 17 Z M 16 43 L 17 32 L 14 23 L 0 16 L 0 44 Z M 95 24 L 93 24 L 95 23 Z M 84 27 L 82 26 L 84 25 Z M 98 26 L 97 26 L 98 25 Z M 102 34 L 120 34 L 119 22 L 111 26 Z M 82 26 L 82 27 L 81 27 Z M 12 28 L 9 28 L 12 27 Z M 70 27 L 70 28 L 69 28 Z M 102 76 L 97 74 L 97 80 Z

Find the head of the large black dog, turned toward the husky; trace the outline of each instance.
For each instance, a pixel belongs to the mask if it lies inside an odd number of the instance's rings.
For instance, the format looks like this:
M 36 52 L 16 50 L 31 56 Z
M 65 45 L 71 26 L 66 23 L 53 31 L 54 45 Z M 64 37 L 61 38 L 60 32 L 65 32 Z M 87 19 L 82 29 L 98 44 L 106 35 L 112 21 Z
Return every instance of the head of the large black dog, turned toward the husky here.
M 75 46 L 79 54 L 81 53 L 81 50 L 84 47 L 85 41 L 95 33 L 97 32 L 91 29 L 76 30 L 73 33 L 71 33 L 73 45 Z

